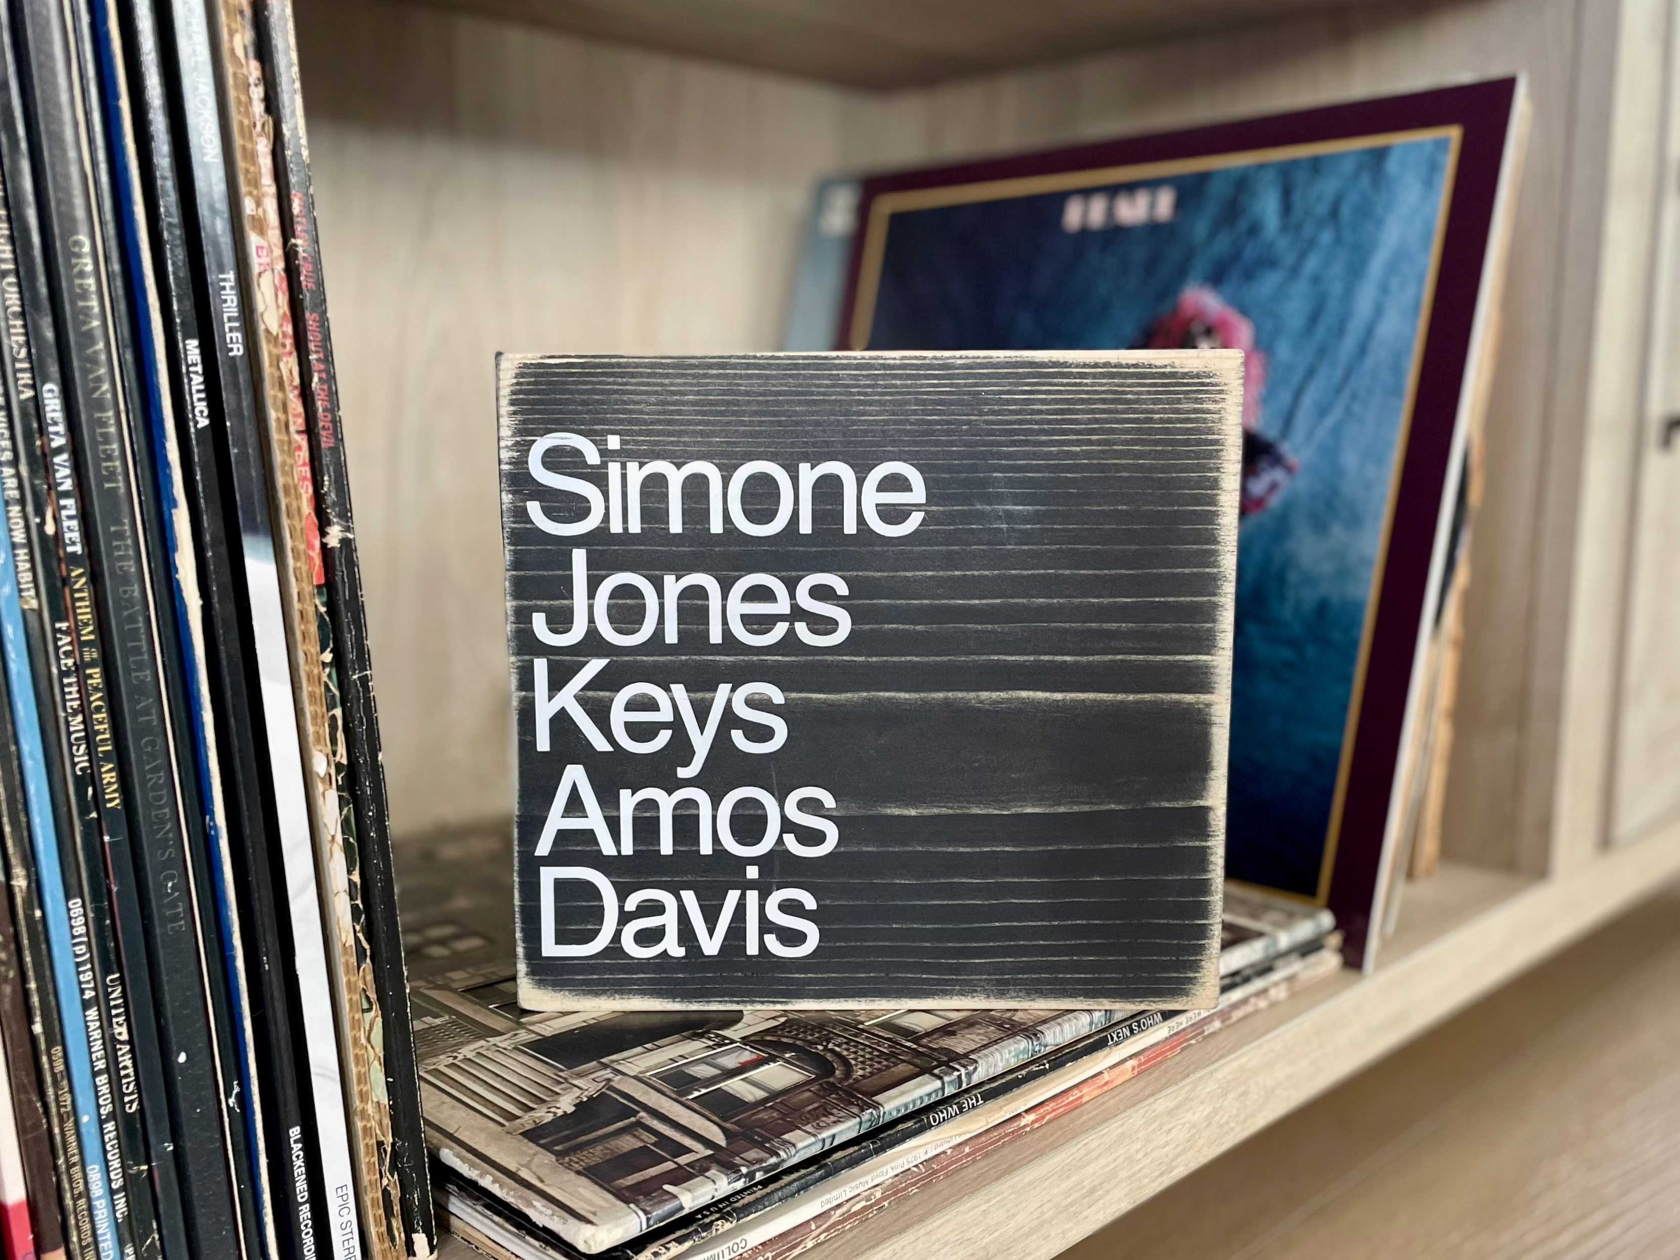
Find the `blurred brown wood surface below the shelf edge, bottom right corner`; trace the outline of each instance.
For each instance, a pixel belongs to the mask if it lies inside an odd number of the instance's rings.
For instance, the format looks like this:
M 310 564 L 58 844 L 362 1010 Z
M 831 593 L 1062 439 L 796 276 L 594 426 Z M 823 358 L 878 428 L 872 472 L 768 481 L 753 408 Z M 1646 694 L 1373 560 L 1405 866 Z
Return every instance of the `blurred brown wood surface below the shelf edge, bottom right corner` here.
M 1680 884 L 1058 1260 L 1672 1255 L 1680 1003 L 1658 996 L 1670 993 Z

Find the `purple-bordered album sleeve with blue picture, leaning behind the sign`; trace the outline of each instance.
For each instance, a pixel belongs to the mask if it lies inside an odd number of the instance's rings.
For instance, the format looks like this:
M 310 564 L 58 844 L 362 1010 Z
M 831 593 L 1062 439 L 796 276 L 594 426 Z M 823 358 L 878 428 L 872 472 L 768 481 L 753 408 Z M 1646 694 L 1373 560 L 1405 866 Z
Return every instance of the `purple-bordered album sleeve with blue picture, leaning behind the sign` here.
M 833 291 L 847 349 L 1245 349 L 1226 875 L 1361 964 L 1524 116 L 1507 77 L 864 178 Z

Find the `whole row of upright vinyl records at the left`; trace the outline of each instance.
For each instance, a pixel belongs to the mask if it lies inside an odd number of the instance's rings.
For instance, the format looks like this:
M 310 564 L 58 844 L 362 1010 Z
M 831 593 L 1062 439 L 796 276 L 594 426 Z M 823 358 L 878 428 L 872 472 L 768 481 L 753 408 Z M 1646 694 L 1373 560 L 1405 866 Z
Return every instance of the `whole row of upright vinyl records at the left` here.
M 428 1255 L 291 8 L 0 44 L 7 1257 Z

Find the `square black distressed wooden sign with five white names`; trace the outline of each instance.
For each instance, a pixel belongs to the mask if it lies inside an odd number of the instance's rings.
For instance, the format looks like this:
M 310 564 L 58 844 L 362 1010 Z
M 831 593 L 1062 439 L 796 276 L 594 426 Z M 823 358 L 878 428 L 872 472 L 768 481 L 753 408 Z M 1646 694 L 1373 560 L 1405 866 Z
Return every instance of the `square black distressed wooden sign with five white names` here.
M 1211 1003 L 1238 353 L 504 356 L 499 402 L 526 1006 Z M 704 465 L 682 533 L 654 460 Z M 643 790 L 699 790 L 669 852 Z

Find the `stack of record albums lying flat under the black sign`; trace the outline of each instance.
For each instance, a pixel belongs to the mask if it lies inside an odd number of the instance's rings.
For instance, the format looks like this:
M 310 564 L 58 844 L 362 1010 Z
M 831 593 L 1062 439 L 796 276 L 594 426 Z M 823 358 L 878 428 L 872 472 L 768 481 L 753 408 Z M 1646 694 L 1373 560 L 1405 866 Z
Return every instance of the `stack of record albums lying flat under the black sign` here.
M 507 837 L 398 847 L 442 1220 L 492 1257 L 791 1257 L 1341 969 L 1225 895 L 1210 1010 L 533 1011 Z

